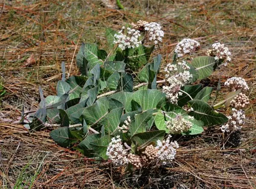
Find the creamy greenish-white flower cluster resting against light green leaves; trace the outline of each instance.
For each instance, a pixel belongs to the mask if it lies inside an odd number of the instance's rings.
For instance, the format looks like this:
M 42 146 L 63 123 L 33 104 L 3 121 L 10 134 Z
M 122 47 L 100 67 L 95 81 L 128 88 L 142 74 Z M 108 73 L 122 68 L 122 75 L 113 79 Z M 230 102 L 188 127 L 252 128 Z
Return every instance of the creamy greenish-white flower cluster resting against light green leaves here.
M 190 116 L 189 119 L 193 120 L 194 117 Z M 172 134 L 187 132 L 192 126 L 191 121 L 186 120 L 180 113 L 175 119 L 166 121 L 166 128 L 169 129 L 169 132 Z

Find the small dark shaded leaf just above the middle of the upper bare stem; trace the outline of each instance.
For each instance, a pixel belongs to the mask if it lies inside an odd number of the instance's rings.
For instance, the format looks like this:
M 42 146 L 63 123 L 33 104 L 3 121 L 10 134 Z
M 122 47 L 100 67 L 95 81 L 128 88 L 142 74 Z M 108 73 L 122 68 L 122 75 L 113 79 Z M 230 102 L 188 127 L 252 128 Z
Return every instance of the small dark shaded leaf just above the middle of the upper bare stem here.
M 121 78 L 119 80 L 117 89 L 124 92 L 132 92 L 133 91 L 132 75 L 127 72 L 121 72 L 120 75 L 121 75 Z

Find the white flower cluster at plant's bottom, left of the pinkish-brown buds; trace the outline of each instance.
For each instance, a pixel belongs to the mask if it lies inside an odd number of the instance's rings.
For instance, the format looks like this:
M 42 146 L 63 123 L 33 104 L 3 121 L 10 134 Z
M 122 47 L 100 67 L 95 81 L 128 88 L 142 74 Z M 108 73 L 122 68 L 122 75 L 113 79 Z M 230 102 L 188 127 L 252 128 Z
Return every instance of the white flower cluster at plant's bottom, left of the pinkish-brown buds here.
M 108 145 L 106 155 L 117 166 L 128 163 L 128 159 L 126 157 L 127 152 L 122 146 L 122 140 L 119 135 L 116 136 L 116 138 L 113 137 L 111 139 L 111 142 Z

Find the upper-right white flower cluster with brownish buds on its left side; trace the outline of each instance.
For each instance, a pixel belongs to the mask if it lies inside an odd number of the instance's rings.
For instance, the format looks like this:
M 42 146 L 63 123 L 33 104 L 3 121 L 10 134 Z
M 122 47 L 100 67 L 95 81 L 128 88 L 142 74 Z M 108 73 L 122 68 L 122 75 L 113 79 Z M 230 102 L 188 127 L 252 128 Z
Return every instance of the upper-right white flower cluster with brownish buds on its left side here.
M 212 44 L 212 49 L 207 52 L 207 55 L 214 56 L 215 60 L 221 60 L 225 66 L 231 61 L 229 49 L 219 42 Z

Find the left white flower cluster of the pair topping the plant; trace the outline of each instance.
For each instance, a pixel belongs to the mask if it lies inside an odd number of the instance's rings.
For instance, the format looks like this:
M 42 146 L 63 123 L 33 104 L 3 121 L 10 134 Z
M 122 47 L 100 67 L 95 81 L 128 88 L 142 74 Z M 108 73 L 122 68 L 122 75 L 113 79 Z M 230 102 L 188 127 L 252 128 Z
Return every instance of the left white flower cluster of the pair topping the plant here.
M 115 34 L 115 40 L 113 43 L 117 43 L 118 46 L 124 50 L 126 48 L 136 48 L 141 44 L 140 31 L 136 29 L 127 28 L 127 34 L 123 34 L 123 29 L 119 31 L 119 34 Z

